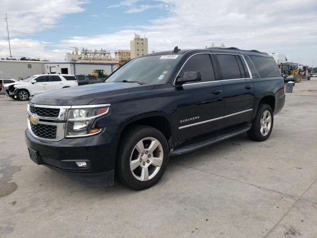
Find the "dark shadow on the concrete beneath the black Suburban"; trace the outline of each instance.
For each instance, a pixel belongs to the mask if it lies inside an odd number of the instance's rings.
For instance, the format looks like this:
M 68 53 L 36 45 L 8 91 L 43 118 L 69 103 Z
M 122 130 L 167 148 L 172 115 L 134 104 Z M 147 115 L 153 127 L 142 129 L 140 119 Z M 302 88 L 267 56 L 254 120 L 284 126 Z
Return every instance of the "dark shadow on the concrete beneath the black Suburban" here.
M 164 183 L 168 182 L 168 179 L 173 179 L 172 175 L 173 171 L 179 170 L 181 167 L 179 165 L 184 165 L 188 161 L 195 161 L 192 163 L 191 167 L 195 168 L 195 164 L 199 165 L 209 157 L 208 159 L 214 160 L 219 155 L 219 151 L 234 151 L 241 150 L 244 143 L 250 143 L 250 139 L 246 134 L 241 134 L 236 137 L 227 139 L 225 141 L 218 142 L 216 144 L 207 146 L 197 151 L 193 151 L 184 155 L 172 156 L 169 158 L 169 164 L 167 166 L 165 175 L 159 180 L 158 184 L 149 189 L 155 189 L 155 187 L 164 186 Z M 251 142 L 258 143 L 258 142 Z M 186 167 L 184 167 L 186 168 Z M 54 190 L 58 189 L 59 192 L 62 193 L 70 193 L 80 195 L 81 193 L 90 194 L 91 196 L 103 196 L 105 194 L 108 195 L 127 195 L 127 194 L 135 194 L 136 191 L 126 187 L 122 182 L 120 182 L 117 178 L 114 180 L 113 186 L 91 186 L 84 183 L 81 183 L 77 180 L 70 178 L 69 176 L 56 173 L 49 168 L 42 168 L 45 173 L 45 183 L 43 184 L 50 189 L 50 187 L 54 188 Z M 41 173 L 41 172 L 40 172 Z M 169 176 L 166 176 L 166 174 Z

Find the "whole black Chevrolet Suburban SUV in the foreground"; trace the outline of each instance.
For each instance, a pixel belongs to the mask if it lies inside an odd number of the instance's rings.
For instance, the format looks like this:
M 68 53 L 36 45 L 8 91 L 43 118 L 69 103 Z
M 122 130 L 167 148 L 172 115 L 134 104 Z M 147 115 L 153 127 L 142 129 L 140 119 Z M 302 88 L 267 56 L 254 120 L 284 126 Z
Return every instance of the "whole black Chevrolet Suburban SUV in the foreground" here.
M 284 102 L 283 77 L 266 53 L 175 47 L 128 61 L 105 83 L 33 97 L 26 143 L 35 163 L 55 171 L 106 185 L 116 174 L 145 189 L 169 156 L 244 132 L 266 140 Z

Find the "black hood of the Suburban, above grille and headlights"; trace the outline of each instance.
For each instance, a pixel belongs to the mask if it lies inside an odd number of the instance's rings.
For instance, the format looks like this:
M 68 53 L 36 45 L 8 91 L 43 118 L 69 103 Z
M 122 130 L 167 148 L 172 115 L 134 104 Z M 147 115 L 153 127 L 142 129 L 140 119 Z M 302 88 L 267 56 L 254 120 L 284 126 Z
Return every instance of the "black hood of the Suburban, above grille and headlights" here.
M 83 86 L 63 88 L 36 95 L 31 103 L 42 105 L 87 105 L 96 98 L 152 90 L 154 85 L 140 85 L 138 83 L 95 83 Z M 106 103 L 106 102 L 105 102 Z

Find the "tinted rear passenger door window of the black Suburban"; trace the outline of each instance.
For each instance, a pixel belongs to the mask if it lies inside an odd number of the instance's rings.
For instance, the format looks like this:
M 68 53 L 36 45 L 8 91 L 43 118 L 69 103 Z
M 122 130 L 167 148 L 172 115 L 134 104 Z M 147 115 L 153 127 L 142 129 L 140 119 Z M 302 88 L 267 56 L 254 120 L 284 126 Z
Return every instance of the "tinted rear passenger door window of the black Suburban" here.
M 243 78 L 234 55 L 216 55 L 216 57 L 220 64 L 223 79 Z

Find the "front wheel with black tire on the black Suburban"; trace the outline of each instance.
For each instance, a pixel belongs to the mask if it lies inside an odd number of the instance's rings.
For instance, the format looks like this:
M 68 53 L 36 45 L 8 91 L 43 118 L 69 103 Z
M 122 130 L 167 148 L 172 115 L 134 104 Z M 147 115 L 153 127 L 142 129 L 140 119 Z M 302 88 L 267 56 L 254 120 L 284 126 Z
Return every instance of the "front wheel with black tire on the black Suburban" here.
M 136 126 L 119 142 L 116 174 L 128 187 L 142 190 L 155 185 L 168 163 L 165 136 L 151 126 Z

